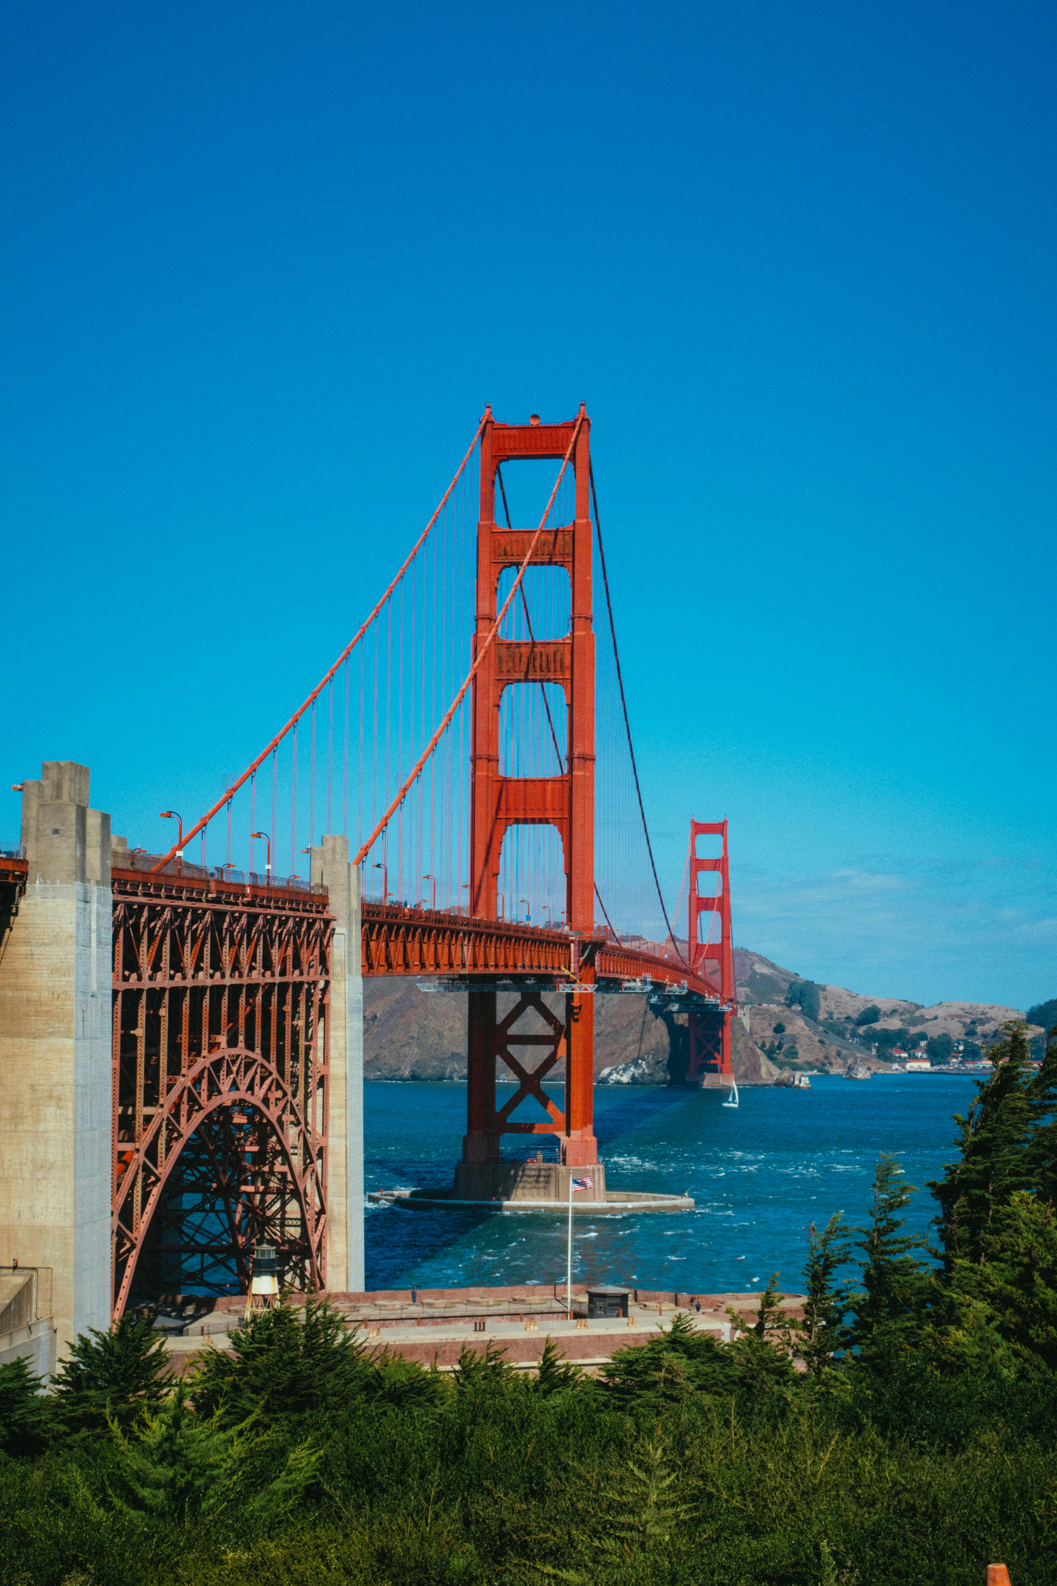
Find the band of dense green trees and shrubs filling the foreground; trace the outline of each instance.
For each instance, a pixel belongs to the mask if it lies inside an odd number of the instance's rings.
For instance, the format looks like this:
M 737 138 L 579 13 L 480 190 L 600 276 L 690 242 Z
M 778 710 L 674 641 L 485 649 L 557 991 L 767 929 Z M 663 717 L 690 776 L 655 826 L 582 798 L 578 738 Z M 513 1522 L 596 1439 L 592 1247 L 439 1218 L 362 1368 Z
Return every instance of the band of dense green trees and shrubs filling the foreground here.
M 149 1323 L 52 1393 L 0 1367 L 3 1586 L 1057 1586 L 1057 1042 L 1024 1026 L 932 1193 L 878 1163 L 729 1342 L 677 1313 L 586 1372 L 374 1348 L 322 1301 L 171 1381 Z

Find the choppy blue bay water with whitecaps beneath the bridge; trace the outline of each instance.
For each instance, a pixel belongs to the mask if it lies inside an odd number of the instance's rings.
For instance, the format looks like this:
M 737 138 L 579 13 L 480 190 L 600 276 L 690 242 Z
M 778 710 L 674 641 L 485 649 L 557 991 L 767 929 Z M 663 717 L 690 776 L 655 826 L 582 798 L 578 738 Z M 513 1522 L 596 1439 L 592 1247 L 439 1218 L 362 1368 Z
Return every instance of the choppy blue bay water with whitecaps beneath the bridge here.
M 925 1180 L 956 1156 L 956 1112 L 973 1082 L 891 1074 L 813 1078 L 811 1090 L 743 1090 L 737 1110 L 715 1091 L 647 1086 L 596 1091 L 596 1134 L 613 1190 L 689 1190 L 697 1209 L 575 1220 L 575 1281 L 727 1293 L 772 1272 L 799 1286 L 811 1221 L 862 1221 L 880 1151 L 919 1186 L 911 1226 L 927 1232 Z M 561 1102 L 561 1090 L 555 1091 Z M 450 1185 L 466 1128 L 464 1085 L 366 1085 L 368 1190 Z M 532 1148 L 537 1142 L 532 1142 Z M 544 1145 L 553 1145 L 544 1140 Z M 525 1155 L 525 1153 L 523 1153 Z M 371 1207 L 368 1288 L 564 1281 L 566 1223 L 518 1212 L 399 1212 Z

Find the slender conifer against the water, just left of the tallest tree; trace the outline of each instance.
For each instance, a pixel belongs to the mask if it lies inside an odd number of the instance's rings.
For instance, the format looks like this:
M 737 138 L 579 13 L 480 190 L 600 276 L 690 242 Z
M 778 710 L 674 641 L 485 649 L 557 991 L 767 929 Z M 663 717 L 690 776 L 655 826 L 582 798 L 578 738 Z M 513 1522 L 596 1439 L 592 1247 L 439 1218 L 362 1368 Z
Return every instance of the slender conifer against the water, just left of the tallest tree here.
M 932 1289 L 932 1275 L 918 1259 L 924 1240 L 905 1234 L 902 1215 L 913 1185 L 900 1183 L 903 1169 L 895 1156 L 881 1155 L 873 1175 L 870 1221 L 854 1232 L 862 1251 L 862 1293 L 854 1296 L 856 1320 L 851 1342 L 867 1362 L 887 1361 L 894 1350 L 918 1340 Z

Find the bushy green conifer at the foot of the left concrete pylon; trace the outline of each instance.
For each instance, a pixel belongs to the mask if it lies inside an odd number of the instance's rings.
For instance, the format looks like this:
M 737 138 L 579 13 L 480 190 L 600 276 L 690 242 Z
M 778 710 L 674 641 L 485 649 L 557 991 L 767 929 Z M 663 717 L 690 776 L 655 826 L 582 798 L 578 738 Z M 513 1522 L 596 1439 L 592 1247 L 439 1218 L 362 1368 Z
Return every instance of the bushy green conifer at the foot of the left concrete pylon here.
M 76 1339 L 55 1378 L 55 1407 L 78 1432 L 127 1427 L 162 1402 L 166 1386 L 165 1340 L 147 1316 L 124 1315 L 109 1332 L 92 1327 Z

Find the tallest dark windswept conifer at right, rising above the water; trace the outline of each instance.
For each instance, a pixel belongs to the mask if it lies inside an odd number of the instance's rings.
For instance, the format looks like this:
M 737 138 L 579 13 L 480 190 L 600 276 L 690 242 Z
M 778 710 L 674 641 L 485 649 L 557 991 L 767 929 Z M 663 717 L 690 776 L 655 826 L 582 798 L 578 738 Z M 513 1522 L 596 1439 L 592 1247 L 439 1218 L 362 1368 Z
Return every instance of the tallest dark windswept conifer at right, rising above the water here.
M 1024 1025 L 1006 1025 L 992 1047 L 994 1071 L 976 1086 L 976 1099 L 956 1117 L 960 1156 L 941 1180 L 929 1185 L 940 1202 L 944 1272 L 954 1261 L 983 1261 L 984 1235 L 995 1210 L 1017 1190 L 1032 1190 L 1035 1172 L 1027 1150 L 1032 1126 L 1028 1048 Z

